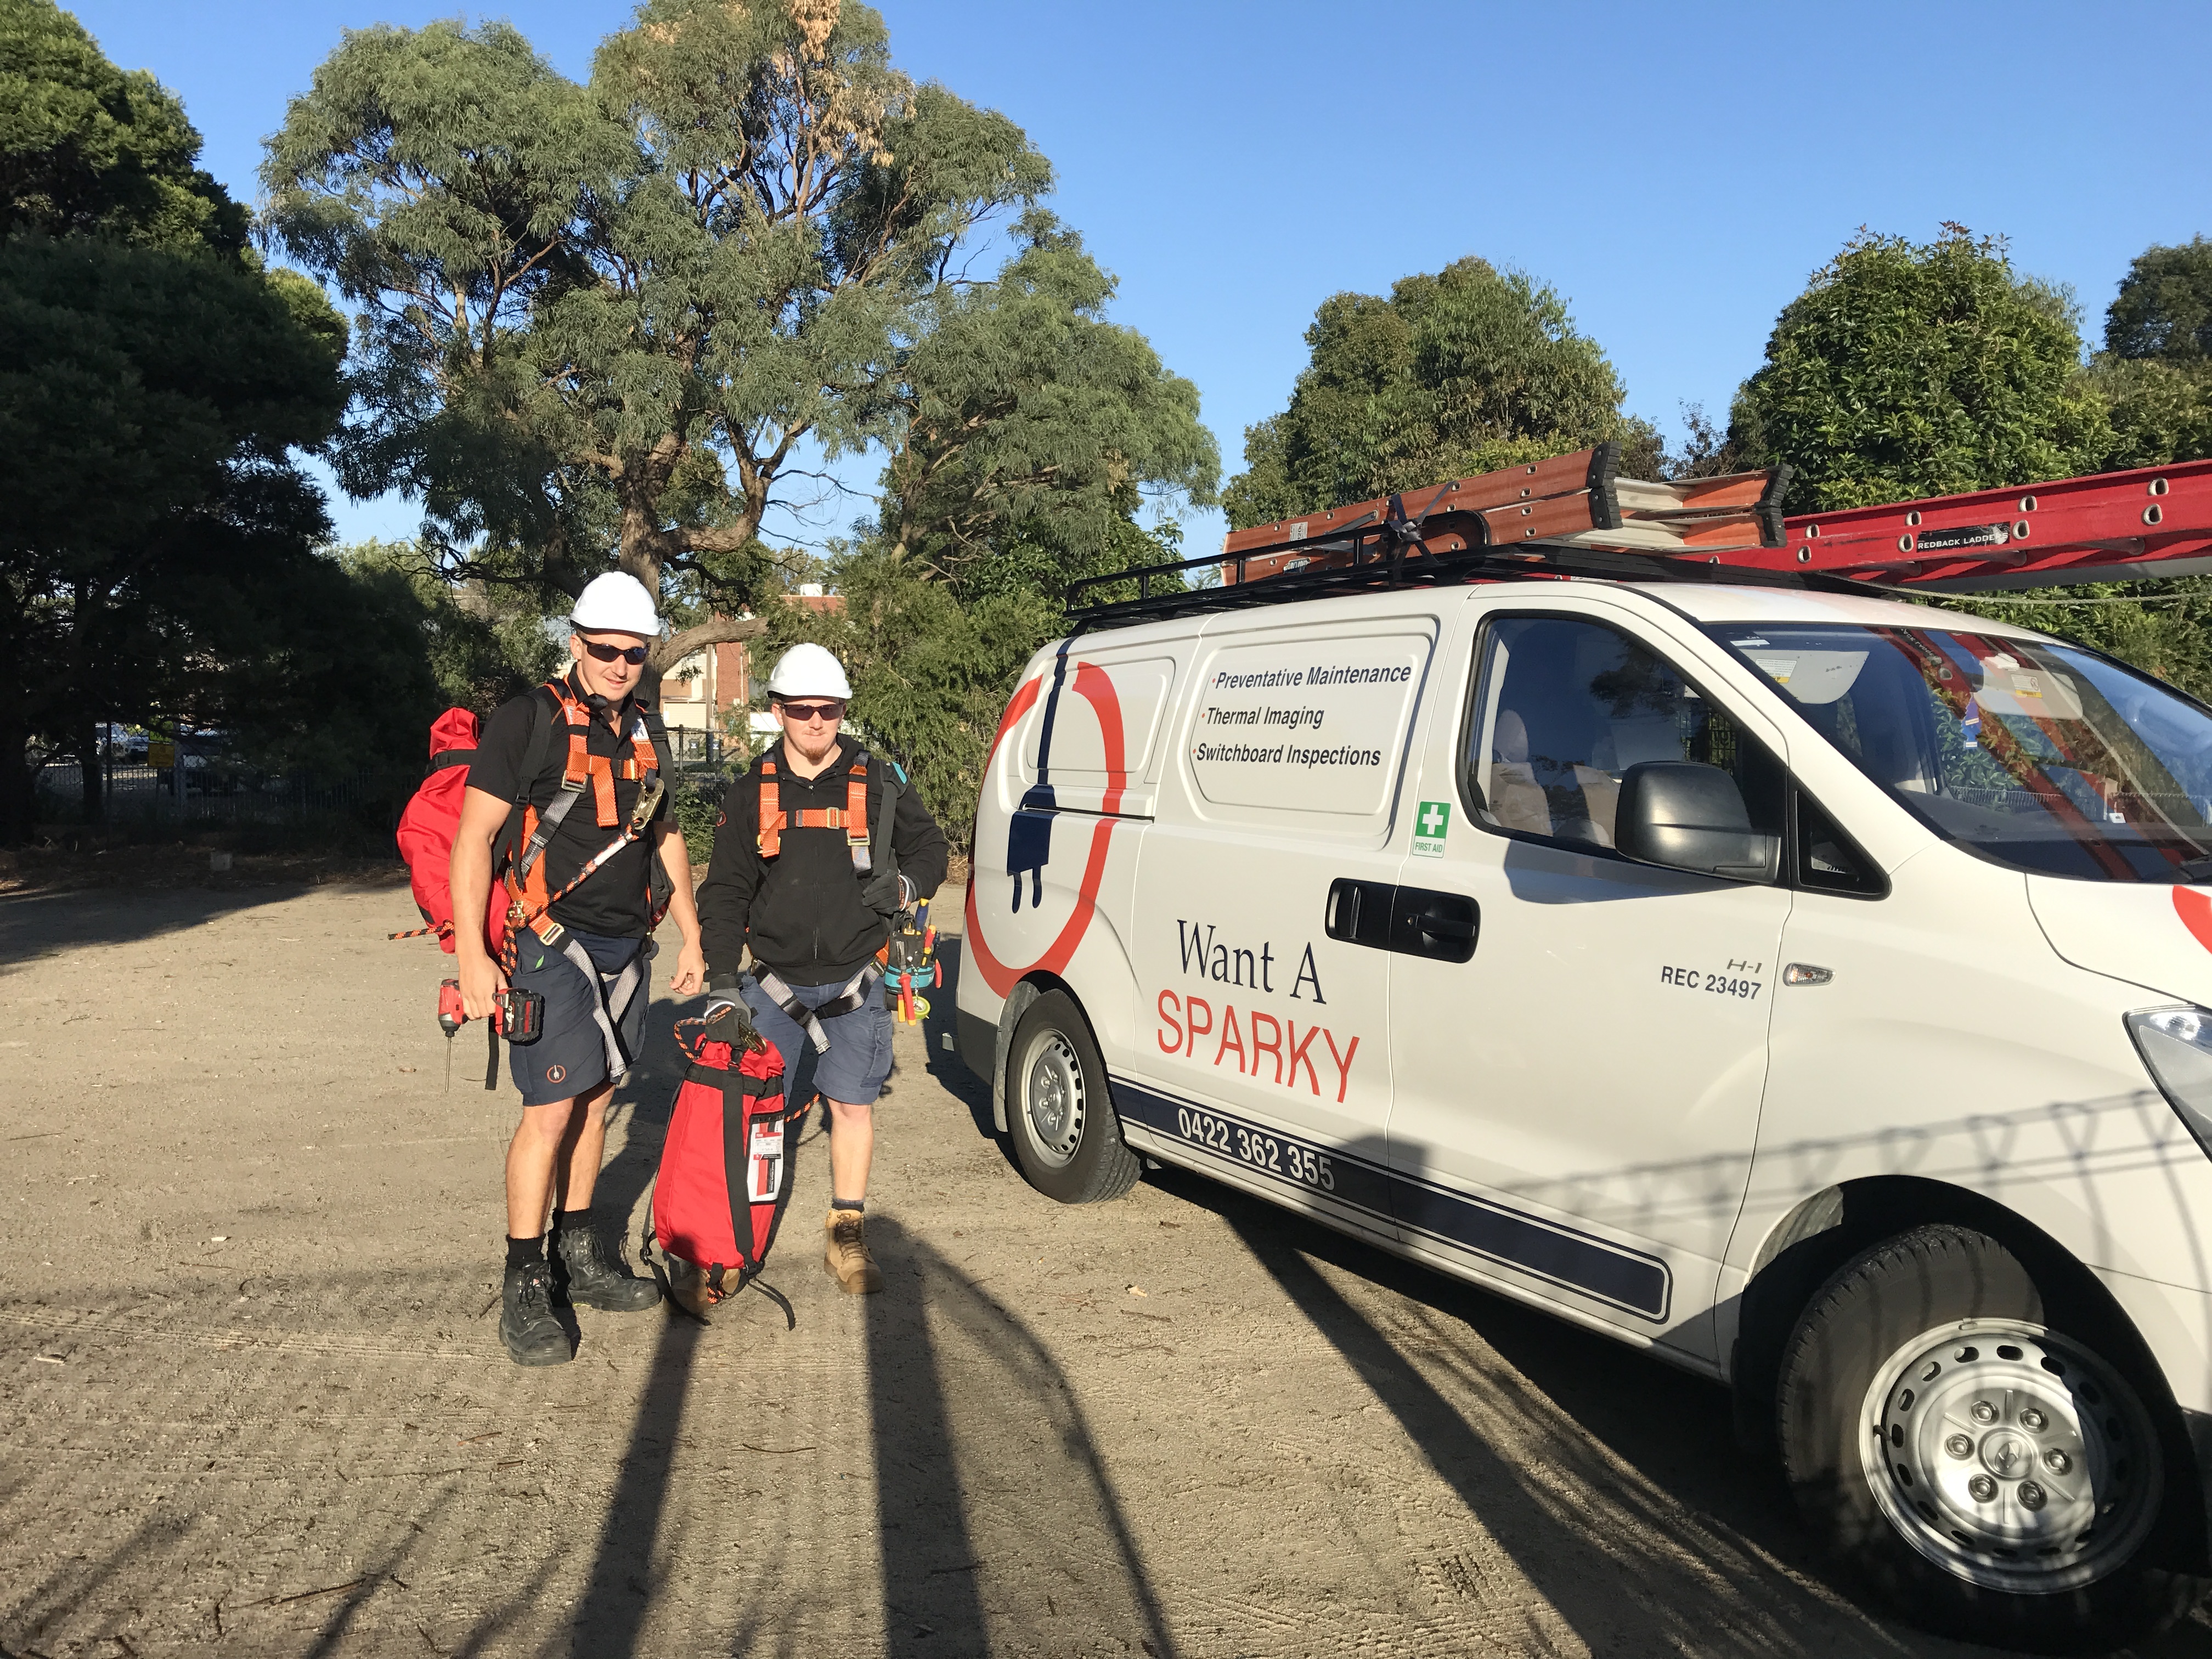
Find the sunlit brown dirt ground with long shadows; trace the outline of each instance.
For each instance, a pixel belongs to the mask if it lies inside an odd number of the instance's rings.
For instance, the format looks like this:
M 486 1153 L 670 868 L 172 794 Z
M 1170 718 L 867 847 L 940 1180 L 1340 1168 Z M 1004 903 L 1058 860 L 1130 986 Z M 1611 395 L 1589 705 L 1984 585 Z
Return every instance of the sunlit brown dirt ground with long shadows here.
M 522 1371 L 515 1095 L 473 1029 L 447 1084 L 414 922 L 250 869 L 0 898 L 0 1652 L 1984 1652 L 1856 1613 L 1710 1385 L 1172 1170 L 1037 1197 L 949 989 L 878 1117 L 883 1296 L 821 1270 L 816 1139 L 796 1329 L 586 1310 Z

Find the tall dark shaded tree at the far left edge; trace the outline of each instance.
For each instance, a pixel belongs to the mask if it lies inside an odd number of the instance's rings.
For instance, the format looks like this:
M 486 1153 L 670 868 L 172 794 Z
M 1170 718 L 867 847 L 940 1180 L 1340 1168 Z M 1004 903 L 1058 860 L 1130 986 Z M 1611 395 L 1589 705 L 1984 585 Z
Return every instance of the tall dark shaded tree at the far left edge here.
M 33 743 L 86 761 L 97 818 L 95 723 L 212 710 L 217 664 L 270 644 L 272 595 L 312 580 L 327 533 L 290 453 L 336 420 L 345 323 L 259 268 L 197 155 L 150 75 L 46 0 L 0 0 L 9 841 L 31 830 Z

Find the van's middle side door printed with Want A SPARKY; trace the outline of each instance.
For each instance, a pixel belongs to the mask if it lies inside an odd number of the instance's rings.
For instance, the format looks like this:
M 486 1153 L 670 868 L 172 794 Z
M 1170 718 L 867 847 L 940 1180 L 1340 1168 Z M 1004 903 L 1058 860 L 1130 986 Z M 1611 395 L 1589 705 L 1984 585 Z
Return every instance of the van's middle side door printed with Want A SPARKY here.
M 1144 1035 L 1115 1082 L 1130 1141 L 1378 1237 L 1389 984 L 1329 920 L 1396 880 L 1444 604 L 1458 595 L 1208 624 L 1137 858 Z

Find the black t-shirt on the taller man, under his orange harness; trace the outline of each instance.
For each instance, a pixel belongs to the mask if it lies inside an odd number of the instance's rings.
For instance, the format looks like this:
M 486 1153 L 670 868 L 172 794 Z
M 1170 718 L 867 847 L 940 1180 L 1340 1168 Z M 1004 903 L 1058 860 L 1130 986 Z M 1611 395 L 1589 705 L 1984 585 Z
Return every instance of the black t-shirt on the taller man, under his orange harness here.
M 571 692 L 575 681 L 571 679 Z M 476 741 L 476 759 L 469 763 L 469 787 L 495 794 L 502 801 L 513 801 L 522 790 L 518 787 L 518 772 L 522 772 L 522 761 L 529 752 L 531 730 L 535 726 L 551 726 L 553 739 L 544 745 L 544 765 L 538 768 L 538 776 L 531 781 L 529 801 L 544 816 L 544 810 L 553 805 L 553 796 L 560 794 L 562 772 L 568 765 L 568 728 L 560 723 L 560 717 L 549 708 L 551 697 L 546 692 L 533 690 L 529 697 L 515 697 L 509 703 L 500 703 L 491 719 L 484 721 L 484 732 Z M 615 825 L 602 825 L 597 807 L 593 805 L 593 790 L 586 787 L 577 796 L 575 805 L 568 807 L 568 816 L 562 818 L 560 830 L 553 832 L 553 841 L 544 849 L 544 872 L 546 891 L 557 894 L 580 872 L 608 841 L 622 834 L 622 825 L 630 821 L 630 807 L 637 805 L 637 792 L 644 787 L 639 779 L 624 779 L 622 763 L 635 752 L 630 748 L 630 730 L 639 719 L 637 699 L 630 697 L 622 706 L 622 730 L 617 732 L 608 726 L 604 714 L 595 714 L 591 721 L 591 739 L 586 748 L 593 754 L 604 754 L 615 763 Z M 668 812 L 668 803 L 655 812 L 655 818 Z M 520 838 L 520 814 L 511 821 L 511 834 Z M 644 938 L 648 922 L 653 920 L 653 900 L 646 891 L 646 880 L 650 876 L 653 858 L 653 832 L 633 841 L 628 847 L 608 858 L 599 869 L 593 872 L 591 880 L 577 887 L 568 898 L 553 907 L 553 920 L 562 927 L 577 927 L 586 933 L 604 933 L 608 938 Z M 493 843 L 493 872 L 504 869 L 507 836 Z

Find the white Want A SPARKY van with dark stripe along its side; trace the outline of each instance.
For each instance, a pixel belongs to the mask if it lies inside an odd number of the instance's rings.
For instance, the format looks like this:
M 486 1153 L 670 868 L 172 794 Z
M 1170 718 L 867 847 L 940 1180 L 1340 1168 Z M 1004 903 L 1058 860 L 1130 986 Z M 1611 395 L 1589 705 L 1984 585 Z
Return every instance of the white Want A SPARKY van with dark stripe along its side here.
M 1889 1606 L 2117 1646 L 2212 1566 L 2212 712 L 1843 586 L 1048 646 L 960 1048 L 1042 1192 L 1179 1164 L 1641 1345 Z

